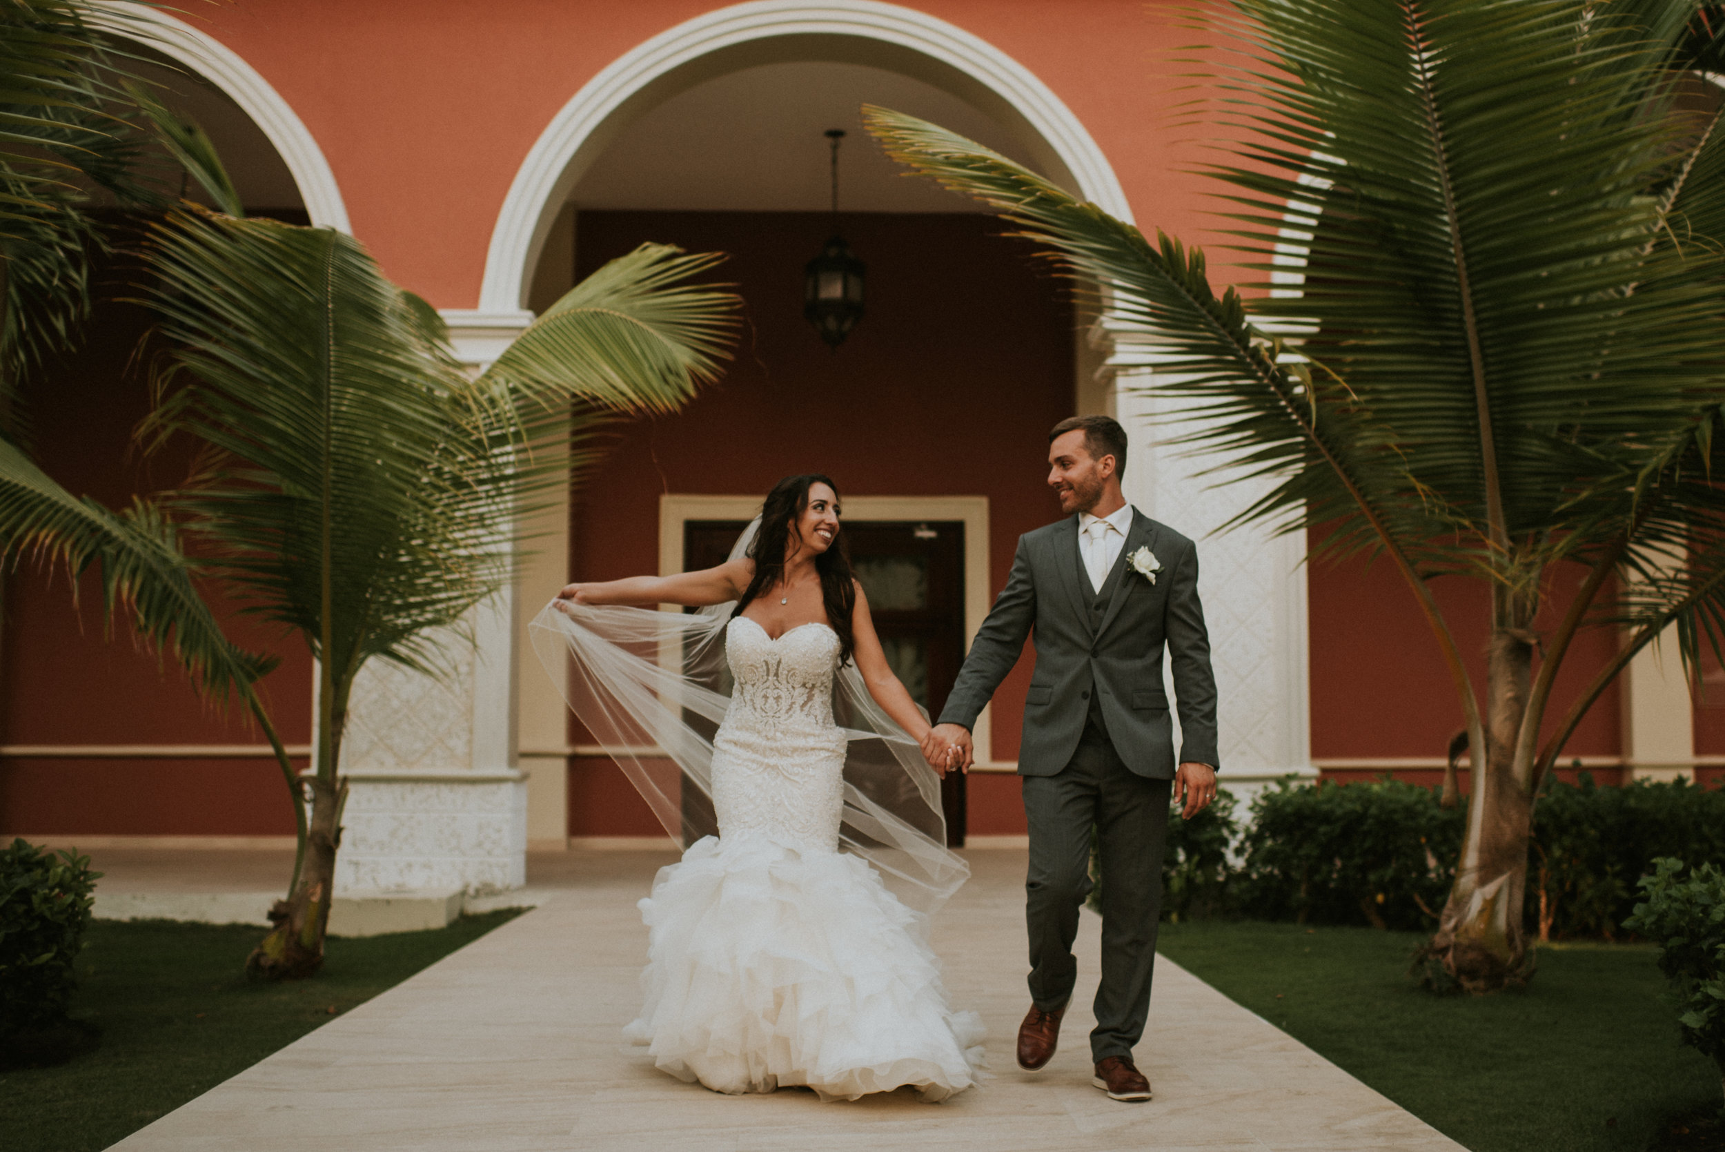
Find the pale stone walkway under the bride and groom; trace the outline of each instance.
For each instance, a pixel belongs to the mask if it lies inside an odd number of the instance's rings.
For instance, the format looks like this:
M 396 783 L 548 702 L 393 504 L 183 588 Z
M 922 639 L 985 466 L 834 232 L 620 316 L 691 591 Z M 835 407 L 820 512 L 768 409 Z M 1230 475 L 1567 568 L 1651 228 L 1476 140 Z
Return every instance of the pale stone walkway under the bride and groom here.
M 1138 1064 L 1151 1104 L 1090 1086 L 1085 1033 L 1099 921 L 1085 914 L 1080 993 L 1038 1076 L 1013 1064 L 1025 1012 L 1023 852 L 969 854 L 975 878 L 935 945 L 963 1007 L 988 1024 L 995 1076 L 928 1105 L 909 1093 L 821 1104 L 723 1097 L 621 1042 L 638 1005 L 635 900 L 666 854 L 557 854 L 530 873 L 538 909 L 122 1140 L 128 1152 L 1439 1152 L 1461 1145 L 1239 1007 L 1166 957 Z M 1088 978 L 1088 986 L 1085 983 Z

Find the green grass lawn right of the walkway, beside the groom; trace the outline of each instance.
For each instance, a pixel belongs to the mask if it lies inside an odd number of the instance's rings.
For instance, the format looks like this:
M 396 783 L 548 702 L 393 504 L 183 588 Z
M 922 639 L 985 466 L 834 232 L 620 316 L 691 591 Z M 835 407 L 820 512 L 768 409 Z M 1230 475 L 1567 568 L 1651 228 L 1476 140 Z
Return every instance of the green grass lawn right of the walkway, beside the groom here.
M 1473 1152 L 1644 1152 L 1659 1121 L 1720 1107 L 1651 945 L 1540 949 L 1525 992 L 1437 999 L 1404 976 L 1421 940 L 1204 921 L 1163 924 L 1159 949 Z

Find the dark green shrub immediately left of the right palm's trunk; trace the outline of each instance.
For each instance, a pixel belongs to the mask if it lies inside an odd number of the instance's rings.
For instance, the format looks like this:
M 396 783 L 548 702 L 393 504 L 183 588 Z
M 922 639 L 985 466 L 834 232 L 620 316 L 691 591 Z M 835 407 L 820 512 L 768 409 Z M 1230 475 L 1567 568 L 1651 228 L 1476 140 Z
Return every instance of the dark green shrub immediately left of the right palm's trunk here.
M 1278 781 L 1252 800 L 1240 907 L 1268 919 L 1427 928 L 1461 847 L 1463 812 L 1396 779 Z

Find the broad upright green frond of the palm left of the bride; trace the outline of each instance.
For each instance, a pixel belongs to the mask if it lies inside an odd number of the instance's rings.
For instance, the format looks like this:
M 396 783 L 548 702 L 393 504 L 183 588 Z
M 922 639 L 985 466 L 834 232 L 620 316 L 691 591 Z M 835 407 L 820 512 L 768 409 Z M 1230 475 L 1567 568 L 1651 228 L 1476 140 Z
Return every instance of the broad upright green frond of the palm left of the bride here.
M 364 248 L 197 210 L 154 241 L 148 302 L 178 350 L 152 424 L 224 454 L 174 504 L 252 610 L 345 678 L 493 592 L 502 543 L 445 507 L 492 445 L 457 404 L 459 366 Z

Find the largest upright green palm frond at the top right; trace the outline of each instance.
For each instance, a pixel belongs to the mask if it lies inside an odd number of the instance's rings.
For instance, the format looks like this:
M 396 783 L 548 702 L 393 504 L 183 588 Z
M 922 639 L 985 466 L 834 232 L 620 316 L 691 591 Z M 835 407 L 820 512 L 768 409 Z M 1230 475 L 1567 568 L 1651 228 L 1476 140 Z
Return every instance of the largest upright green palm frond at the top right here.
M 1672 131 L 1625 116 L 1665 83 L 1637 29 L 1561 2 L 1237 7 L 1240 257 L 1270 271 L 1309 231 L 1297 293 L 1254 312 L 1304 326 L 1480 538 L 1552 528 L 1558 441 L 1675 431 L 1718 388 L 1718 288 L 1646 245 Z

